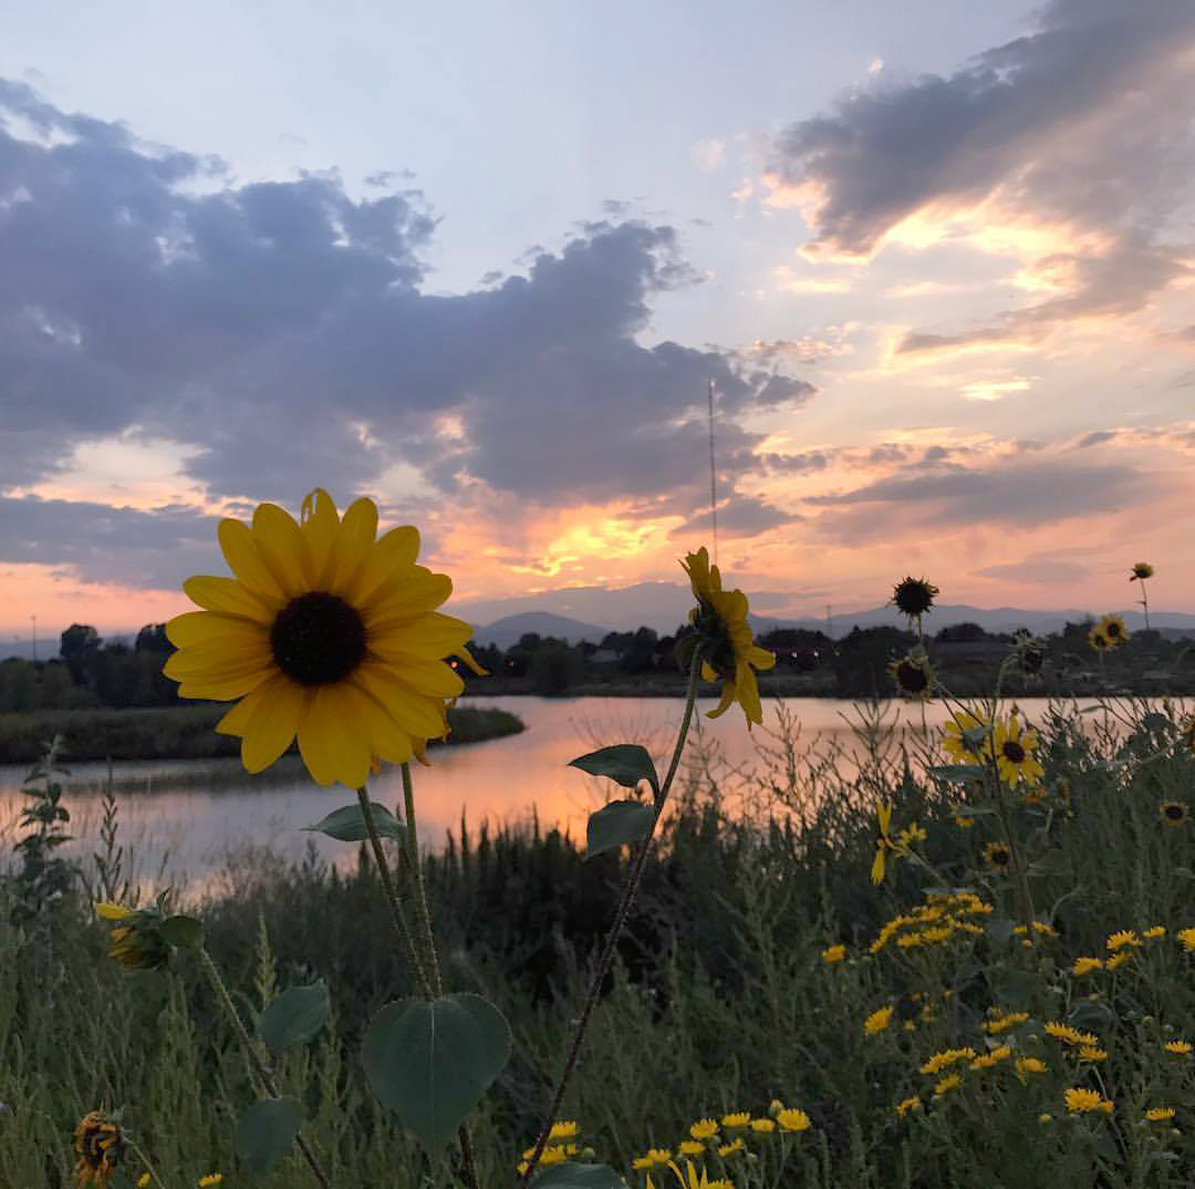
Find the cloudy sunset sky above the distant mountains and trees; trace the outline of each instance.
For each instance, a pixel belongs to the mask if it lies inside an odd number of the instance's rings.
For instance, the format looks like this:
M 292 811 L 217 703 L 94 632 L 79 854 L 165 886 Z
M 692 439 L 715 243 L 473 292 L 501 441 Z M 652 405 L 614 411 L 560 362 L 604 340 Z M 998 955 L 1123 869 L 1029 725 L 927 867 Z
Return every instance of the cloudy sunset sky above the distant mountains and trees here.
M 0 16 L 0 635 L 221 516 L 415 524 L 451 610 L 1195 610 L 1195 6 Z

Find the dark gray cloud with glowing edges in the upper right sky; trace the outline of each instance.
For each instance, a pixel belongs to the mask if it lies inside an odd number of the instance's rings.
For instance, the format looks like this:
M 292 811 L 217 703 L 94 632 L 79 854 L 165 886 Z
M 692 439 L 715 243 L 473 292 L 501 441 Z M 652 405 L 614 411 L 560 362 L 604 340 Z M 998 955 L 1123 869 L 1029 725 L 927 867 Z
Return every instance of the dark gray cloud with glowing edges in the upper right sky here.
M 1053 0 L 1032 33 L 949 77 L 877 81 L 790 126 L 773 170 L 823 196 L 815 252 L 868 254 L 918 211 L 995 195 L 1080 233 L 1050 262 L 1073 267 L 1071 293 L 988 327 L 912 335 L 906 352 L 1138 309 L 1183 270 L 1163 233 L 1195 166 L 1193 49 L 1187 0 Z

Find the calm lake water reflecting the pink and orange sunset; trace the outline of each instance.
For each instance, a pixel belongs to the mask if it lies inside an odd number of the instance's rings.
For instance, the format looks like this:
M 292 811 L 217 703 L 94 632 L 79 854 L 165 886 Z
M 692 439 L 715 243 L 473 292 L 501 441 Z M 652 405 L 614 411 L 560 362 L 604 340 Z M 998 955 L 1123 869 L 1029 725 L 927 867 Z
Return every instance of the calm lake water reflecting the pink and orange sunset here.
M 1090 700 L 1089 700 L 1090 701 Z M 1044 702 L 1021 699 L 1031 720 Z M 431 767 L 412 766 L 421 842 L 442 848 L 446 831 L 459 831 L 465 812 L 470 833 L 484 818 L 498 822 L 528 818 L 541 825 L 568 828 L 584 839 L 586 821 L 612 797 L 627 795 L 608 781 L 587 776 L 568 762 L 612 743 L 642 743 L 656 758 L 661 778 L 675 740 L 682 706 L 679 700 L 642 697 L 492 697 L 468 699 L 470 706 L 495 706 L 517 714 L 527 726 L 520 734 L 485 743 L 434 748 Z M 712 709 L 715 700 L 699 708 Z M 1087 705 L 1086 702 L 1084 705 Z M 920 730 L 921 708 L 888 703 L 897 730 Z M 844 715 L 850 702 L 788 699 L 784 709 L 801 725 L 801 742 L 838 739 L 853 743 Z M 926 707 L 927 722 L 945 721 L 939 703 Z M 764 700 L 764 724 L 774 733 L 777 700 Z M 719 719 L 694 718 L 686 757 L 712 749 L 722 764 L 749 773 L 760 764 L 758 745 L 766 731 L 748 734 L 742 712 L 733 707 Z M 25 768 L 0 767 L 0 850 L 11 852 L 17 816 L 25 804 L 20 781 Z M 67 854 L 90 855 L 99 845 L 99 806 L 108 768 L 100 763 L 72 766 L 63 804 L 71 811 L 74 842 Z M 356 845 L 304 833 L 302 827 L 355 800 L 348 789 L 320 788 L 296 756 L 284 757 L 259 776 L 250 776 L 235 760 L 121 762 L 114 767 L 120 800 L 120 840 L 134 856 L 134 871 L 146 886 L 190 883 L 217 877 L 231 858 L 253 861 L 255 848 L 269 847 L 298 858 L 310 842 L 338 864 L 356 861 Z M 372 798 L 400 811 L 398 769 L 387 768 L 370 785 Z M 400 812 L 399 812 L 399 816 Z M 0 860 L 2 861 L 2 860 Z

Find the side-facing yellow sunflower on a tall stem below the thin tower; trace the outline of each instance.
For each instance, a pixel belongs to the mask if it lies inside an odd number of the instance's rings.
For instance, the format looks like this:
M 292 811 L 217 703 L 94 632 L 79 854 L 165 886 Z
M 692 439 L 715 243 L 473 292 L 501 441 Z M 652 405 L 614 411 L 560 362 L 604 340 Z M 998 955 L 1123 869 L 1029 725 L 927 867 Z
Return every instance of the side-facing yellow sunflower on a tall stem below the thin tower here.
M 737 590 L 723 591 L 722 574 L 717 566 L 710 565 L 705 545 L 686 554 L 681 566 L 698 602 L 688 618 L 697 628 L 691 639 L 701 650 L 701 679 L 723 682 L 722 701 L 709 717 L 716 719 L 731 702 L 737 702 L 747 715 L 748 728 L 752 722 L 762 722 L 754 670 L 771 669 L 776 657 L 755 646 L 747 622 L 747 596 Z

